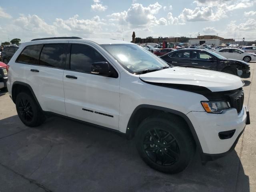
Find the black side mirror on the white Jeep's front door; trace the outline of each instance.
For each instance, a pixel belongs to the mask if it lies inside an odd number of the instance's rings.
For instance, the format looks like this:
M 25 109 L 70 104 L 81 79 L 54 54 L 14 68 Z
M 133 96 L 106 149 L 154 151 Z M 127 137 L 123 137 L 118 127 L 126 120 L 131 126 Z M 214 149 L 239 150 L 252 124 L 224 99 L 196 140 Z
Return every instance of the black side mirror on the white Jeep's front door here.
M 112 75 L 112 68 L 108 62 L 95 62 L 92 64 L 91 73 L 109 77 Z

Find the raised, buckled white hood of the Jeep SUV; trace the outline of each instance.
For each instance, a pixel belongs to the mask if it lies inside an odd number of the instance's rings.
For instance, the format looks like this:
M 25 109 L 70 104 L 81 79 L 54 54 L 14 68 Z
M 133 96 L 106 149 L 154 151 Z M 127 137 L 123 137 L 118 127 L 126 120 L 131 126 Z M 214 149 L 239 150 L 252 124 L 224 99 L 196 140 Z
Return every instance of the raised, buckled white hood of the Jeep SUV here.
M 172 67 L 141 74 L 140 79 L 150 83 L 202 86 L 212 92 L 235 90 L 244 85 L 238 76 L 184 67 Z

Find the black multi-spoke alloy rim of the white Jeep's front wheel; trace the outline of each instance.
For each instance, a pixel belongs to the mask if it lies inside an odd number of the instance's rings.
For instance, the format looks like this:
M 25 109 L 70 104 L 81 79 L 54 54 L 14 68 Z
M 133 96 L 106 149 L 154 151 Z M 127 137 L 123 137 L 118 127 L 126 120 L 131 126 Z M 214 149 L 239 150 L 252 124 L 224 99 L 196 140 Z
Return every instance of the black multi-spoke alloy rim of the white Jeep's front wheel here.
M 161 128 L 152 128 L 144 136 L 144 150 L 155 163 L 168 166 L 177 162 L 180 150 L 176 138 L 171 132 Z

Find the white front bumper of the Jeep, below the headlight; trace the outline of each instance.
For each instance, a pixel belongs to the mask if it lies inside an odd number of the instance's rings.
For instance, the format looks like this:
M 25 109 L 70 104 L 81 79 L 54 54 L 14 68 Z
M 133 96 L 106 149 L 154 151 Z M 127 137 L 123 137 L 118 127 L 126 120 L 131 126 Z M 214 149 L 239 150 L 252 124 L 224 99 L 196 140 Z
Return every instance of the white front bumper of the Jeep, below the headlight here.
M 189 112 L 191 120 L 198 136 L 202 153 L 221 155 L 232 150 L 232 146 L 246 126 L 247 113 L 244 106 L 240 114 L 231 108 L 222 114 L 209 114 L 207 112 Z M 234 135 L 228 139 L 220 139 L 219 133 L 236 130 Z

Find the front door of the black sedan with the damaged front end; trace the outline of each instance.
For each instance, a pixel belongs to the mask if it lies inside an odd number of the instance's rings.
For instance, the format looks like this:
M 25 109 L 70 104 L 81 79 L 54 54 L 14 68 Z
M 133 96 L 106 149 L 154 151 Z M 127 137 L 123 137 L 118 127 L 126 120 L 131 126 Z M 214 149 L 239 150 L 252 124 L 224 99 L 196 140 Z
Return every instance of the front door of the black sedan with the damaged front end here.
M 217 59 L 203 51 L 192 51 L 190 67 L 216 71 Z

